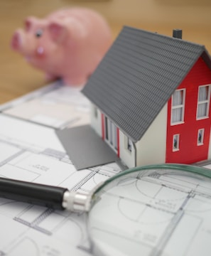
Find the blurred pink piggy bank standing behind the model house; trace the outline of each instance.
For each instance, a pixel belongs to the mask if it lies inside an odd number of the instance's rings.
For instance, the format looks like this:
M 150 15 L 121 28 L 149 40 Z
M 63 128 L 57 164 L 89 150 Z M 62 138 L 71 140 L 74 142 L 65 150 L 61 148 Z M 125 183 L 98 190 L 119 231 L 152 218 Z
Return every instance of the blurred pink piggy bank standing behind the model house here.
M 112 43 L 104 18 L 84 8 L 55 11 L 45 18 L 28 17 L 25 30 L 13 34 L 11 47 L 46 78 L 82 85 L 93 73 Z

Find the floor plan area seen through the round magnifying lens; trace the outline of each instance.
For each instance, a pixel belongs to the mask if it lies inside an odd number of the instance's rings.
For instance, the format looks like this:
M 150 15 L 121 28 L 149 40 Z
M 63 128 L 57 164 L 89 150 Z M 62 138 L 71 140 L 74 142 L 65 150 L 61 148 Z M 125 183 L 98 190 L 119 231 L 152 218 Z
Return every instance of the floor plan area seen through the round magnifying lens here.
M 91 235 L 106 255 L 210 255 L 210 180 L 154 169 L 104 188 L 90 213 Z M 106 218 L 104 218 L 106 216 Z M 121 225 L 124 223 L 124 225 Z M 110 250 L 112 248 L 112 250 Z

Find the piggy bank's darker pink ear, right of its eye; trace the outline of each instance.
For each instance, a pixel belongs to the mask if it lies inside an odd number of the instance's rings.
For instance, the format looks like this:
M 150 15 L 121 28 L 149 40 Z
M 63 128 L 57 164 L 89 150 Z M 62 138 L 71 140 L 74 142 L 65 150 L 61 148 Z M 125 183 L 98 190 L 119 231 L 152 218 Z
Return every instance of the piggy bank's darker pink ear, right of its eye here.
M 52 22 L 48 26 L 48 30 L 53 41 L 63 43 L 67 35 L 67 28 L 60 23 Z

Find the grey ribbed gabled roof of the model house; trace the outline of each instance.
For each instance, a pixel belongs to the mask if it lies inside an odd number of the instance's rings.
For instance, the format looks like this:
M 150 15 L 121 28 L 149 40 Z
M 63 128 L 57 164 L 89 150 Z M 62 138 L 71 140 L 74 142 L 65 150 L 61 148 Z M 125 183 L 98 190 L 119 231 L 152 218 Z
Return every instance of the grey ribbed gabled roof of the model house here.
M 124 27 L 82 92 L 136 142 L 200 55 L 211 67 L 204 46 Z

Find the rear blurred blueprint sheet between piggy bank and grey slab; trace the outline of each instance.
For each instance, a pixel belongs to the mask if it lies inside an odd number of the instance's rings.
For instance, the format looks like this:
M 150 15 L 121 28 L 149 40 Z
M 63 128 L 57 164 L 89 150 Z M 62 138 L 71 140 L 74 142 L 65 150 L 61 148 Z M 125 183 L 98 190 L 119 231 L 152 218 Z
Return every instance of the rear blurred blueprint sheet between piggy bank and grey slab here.
M 0 111 L 55 129 L 87 124 L 90 122 L 90 101 L 80 90 L 81 87 L 54 82 L 47 88 L 0 106 Z

